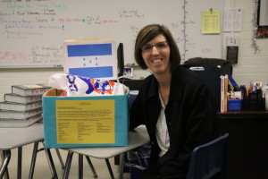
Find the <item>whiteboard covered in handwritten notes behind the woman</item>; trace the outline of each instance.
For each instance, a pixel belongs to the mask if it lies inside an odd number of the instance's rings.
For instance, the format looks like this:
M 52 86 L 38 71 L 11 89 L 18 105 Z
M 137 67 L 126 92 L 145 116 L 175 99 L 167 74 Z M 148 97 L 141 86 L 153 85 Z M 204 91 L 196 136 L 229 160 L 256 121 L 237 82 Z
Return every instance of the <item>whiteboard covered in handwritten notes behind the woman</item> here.
M 183 60 L 222 56 L 222 35 L 201 34 L 201 11 L 222 11 L 222 0 L 1 0 L 0 67 L 63 65 L 63 41 L 114 38 L 125 64 L 134 64 L 138 30 L 166 25 Z

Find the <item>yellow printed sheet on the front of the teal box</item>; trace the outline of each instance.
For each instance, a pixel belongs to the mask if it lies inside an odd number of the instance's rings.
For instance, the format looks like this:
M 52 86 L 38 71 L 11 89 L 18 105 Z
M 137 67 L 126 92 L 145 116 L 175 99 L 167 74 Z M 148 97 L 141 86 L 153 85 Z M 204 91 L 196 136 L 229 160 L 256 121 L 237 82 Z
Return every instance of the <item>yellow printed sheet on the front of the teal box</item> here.
M 114 99 L 56 100 L 57 143 L 114 143 Z

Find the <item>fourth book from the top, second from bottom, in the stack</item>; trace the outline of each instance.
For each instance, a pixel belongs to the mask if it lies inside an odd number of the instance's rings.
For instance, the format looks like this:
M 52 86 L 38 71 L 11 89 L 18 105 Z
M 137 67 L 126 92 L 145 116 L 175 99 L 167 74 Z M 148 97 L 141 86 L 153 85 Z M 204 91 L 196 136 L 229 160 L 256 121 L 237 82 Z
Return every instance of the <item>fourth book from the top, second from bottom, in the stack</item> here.
M 43 112 L 42 107 L 29 110 L 29 111 L 11 111 L 11 110 L 0 110 L 0 118 L 5 119 L 26 119 L 34 115 L 39 115 Z

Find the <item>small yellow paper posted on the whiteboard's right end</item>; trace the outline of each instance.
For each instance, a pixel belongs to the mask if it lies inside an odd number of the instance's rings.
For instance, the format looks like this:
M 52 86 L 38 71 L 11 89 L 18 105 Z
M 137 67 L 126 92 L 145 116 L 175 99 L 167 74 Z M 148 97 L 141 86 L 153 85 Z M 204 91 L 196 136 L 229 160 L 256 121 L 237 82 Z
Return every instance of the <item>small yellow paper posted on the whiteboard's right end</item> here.
M 202 34 L 216 34 L 221 32 L 220 10 L 202 11 Z

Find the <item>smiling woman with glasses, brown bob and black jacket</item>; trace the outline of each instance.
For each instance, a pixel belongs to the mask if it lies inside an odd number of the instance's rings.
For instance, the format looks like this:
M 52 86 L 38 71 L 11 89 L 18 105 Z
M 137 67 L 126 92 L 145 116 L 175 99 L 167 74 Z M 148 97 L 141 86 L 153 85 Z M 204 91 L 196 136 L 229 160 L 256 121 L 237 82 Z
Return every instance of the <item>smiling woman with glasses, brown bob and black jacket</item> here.
M 192 150 L 217 137 L 208 89 L 180 66 L 179 49 L 163 25 L 139 31 L 135 59 L 152 72 L 130 109 L 130 128 L 145 124 L 152 144 L 150 165 L 139 178 L 186 178 Z

